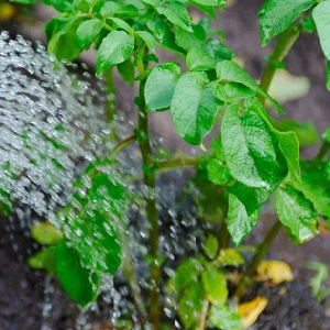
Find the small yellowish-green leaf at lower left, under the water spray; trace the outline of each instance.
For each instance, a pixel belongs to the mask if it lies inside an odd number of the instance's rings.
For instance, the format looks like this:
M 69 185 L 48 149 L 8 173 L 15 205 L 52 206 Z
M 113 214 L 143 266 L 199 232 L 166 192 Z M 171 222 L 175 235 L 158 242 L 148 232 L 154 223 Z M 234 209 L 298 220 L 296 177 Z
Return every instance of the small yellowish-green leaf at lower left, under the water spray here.
M 63 239 L 63 234 L 47 221 L 33 223 L 31 237 L 37 243 L 45 245 L 57 244 Z

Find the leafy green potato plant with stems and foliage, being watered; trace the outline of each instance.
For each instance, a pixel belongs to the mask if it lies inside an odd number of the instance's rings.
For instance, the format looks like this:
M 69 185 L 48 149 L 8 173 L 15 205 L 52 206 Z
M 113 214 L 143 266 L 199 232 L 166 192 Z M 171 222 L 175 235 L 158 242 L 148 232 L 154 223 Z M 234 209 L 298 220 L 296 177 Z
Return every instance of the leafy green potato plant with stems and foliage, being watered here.
M 204 252 L 184 258 L 164 292 L 157 196 L 145 195 L 150 287 L 143 293 L 143 306 L 136 304 L 141 319 L 145 319 L 140 326 L 148 324 L 155 330 L 166 326 L 162 317 L 165 295 L 175 301 L 185 329 L 241 329 L 237 306 L 279 229 L 284 227 L 294 242 L 304 243 L 318 234 L 320 217 L 330 217 L 330 129 L 322 133 L 323 143 L 315 158 L 300 160 L 296 134 L 299 124 L 275 122 L 265 107 L 267 100 L 275 111 L 285 114 L 267 90 L 301 33 L 317 30 L 328 61 L 324 72 L 330 90 L 330 1 L 264 2 L 257 12 L 261 46 L 273 38 L 276 44 L 260 82 L 237 64 L 234 51 L 222 40 L 223 33 L 211 29 L 218 10 L 226 10 L 226 0 L 44 3 L 59 12 L 44 28 L 48 52 L 58 59 L 74 61 L 85 50 L 95 47 L 96 73 L 105 76 L 106 92 L 113 91 L 113 67 L 123 80 L 139 87 L 138 122 L 131 136 L 119 141 L 109 155 L 89 164 L 84 174 L 90 180 L 88 188 L 84 179 L 75 183 L 74 202 L 57 213 L 63 231 L 55 233 L 50 229 L 54 240 L 31 258 L 31 264 L 56 274 L 69 297 L 81 307 L 97 298 L 100 274 L 114 275 L 122 262 L 124 240 L 113 219 L 120 219 L 133 202 L 121 183 L 102 173 L 102 166 L 116 167 L 114 155 L 138 142 L 143 160 L 142 180 L 151 193 L 160 172 L 189 166 L 202 177 L 201 187 L 221 191 L 222 210 L 204 242 Z M 189 14 L 193 8 L 204 13 L 198 22 Z M 175 61 L 160 63 L 160 47 L 180 56 L 185 65 Z M 116 109 L 112 101 L 107 107 L 111 124 Z M 156 156 L 148 114 L 161 111 L 170 112 L 177 134 L 191 145 L 200 145 L 202 155 L 169 160 Z M 215 138 L 206 147 L 202 143 L 210 132 Z M 278 220 L 256 248 L 251 263 L 243 266 L 235 289 L 229 292 L 228 266 L 244 264 L 235 246 L 253 230 L 261 208 L 272 195 Z M 86 241 L 90 244 L 86 245 Z M 131 270 L 129 279 L 133 273 Z

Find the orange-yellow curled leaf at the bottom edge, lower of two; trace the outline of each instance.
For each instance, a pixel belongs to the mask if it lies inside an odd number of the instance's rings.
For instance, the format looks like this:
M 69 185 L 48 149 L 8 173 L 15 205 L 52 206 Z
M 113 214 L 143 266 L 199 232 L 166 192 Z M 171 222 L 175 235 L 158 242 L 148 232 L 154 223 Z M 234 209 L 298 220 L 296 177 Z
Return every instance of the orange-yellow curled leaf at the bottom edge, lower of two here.
M 263 312 L 267 304 L 268 299 L 261 296 L 257 296 L 252 301 L 240 304 L 238 311 L 243 321 L 242 329 L 246 329 L 252 326 Z

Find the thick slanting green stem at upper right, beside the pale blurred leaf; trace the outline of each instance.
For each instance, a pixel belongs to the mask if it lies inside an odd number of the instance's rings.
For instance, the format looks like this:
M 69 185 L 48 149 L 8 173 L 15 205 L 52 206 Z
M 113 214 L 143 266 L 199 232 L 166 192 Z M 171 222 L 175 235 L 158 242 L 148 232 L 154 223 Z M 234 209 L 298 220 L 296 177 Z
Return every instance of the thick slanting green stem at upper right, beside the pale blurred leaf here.
M 282 62 L 297 41 L 300 34 L 300 28 L 296 25 L 292 25 L 289 29 L 282 32 L 277 38 L 277 43 L 271 55 L 266 68 L 261 78 L 260 87 L 267 91 L 270 89 L 271 82 L 274 78 L 277 65 Z M 260 97 L 261 102 L 264 105 L 266 99 L 264 97 Z

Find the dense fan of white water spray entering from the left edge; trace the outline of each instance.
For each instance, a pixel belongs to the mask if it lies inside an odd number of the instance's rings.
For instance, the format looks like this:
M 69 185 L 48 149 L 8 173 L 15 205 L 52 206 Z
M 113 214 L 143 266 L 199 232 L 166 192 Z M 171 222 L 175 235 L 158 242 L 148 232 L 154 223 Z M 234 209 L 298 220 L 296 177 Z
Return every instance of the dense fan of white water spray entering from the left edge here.
M 41 45 L 0 35 L 1 201 L 19 200 L 40 216 L 65 205 L 79 164 L 100 151 L 107 129 L 96 96 Z

